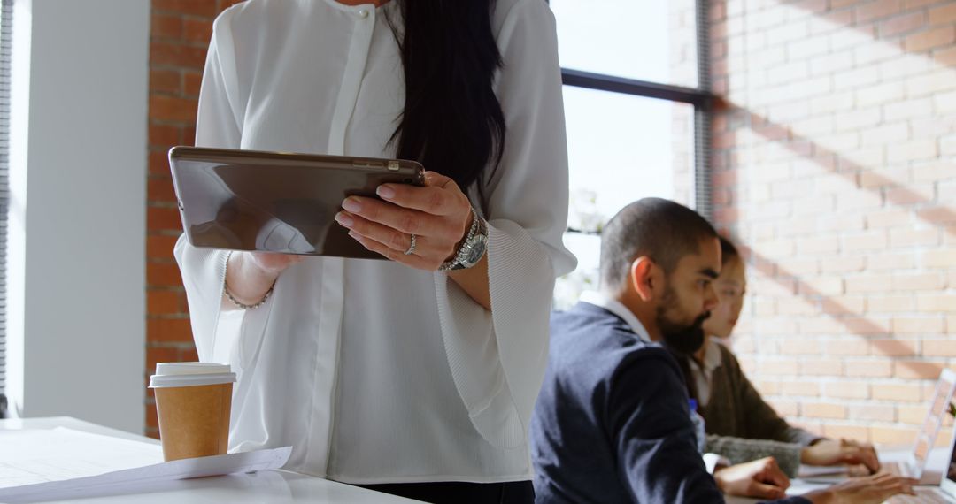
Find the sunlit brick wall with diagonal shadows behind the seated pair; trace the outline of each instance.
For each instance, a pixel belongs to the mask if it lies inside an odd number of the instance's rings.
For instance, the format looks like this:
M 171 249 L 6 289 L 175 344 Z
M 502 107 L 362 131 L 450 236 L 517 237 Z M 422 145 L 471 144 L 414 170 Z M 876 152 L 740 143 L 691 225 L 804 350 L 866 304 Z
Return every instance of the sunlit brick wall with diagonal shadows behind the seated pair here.
M 711 2 L 734 347 L 781 413 L 910 442 L 956 365 L 956 2 Z M 947 437 L 947 436 L 944 436 Z

